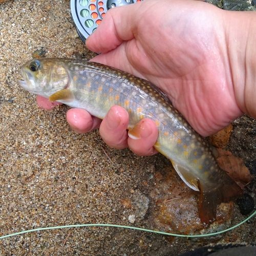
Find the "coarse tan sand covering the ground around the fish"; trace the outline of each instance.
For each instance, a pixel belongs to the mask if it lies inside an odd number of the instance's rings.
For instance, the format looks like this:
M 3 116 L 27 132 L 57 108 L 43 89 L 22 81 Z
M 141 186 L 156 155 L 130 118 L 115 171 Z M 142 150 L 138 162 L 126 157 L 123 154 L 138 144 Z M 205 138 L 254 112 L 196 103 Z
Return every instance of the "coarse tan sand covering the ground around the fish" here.
M 0 236 L 86 223 L 154 228 L 152 177 L 169 161 L 160 154 L 138 157 L 129 149 L 113 150 L 98 131 L 76 134 L 66 122 L 69 107 L 40 109 L 35 95 L 17 84 L 20 66 L 36 50 L 46 51 L 47 57 L 94 56 L 77 37 L 69 4 L 20 0 L 0 5 Z M 239 154 L 248 161 L 254 157 L 246 155 L 246 148 Z M 134 208 L 124 208 L 122 200 L 131 200 L 136 189 L 150 199 L 150 210 L 131 224 Z M 233 223 L 245 218 L 237 208 L 235 214 Z M 120 228 L 55 229 L 2 239 L 0 254 L 178 255 L 215 241 L 255 241 L 253 225 L 251 220 L 217 240 L 200 242 Z

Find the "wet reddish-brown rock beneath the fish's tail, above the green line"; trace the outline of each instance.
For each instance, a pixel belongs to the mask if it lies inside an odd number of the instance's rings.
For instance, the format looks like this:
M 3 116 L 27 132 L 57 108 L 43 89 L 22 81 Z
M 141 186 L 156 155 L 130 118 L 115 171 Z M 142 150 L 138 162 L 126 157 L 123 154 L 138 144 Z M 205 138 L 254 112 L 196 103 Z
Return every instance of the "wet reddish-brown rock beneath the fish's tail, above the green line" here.
M 155 200 L 154 227 L 177 234 L 203 234 L 223 230 L 233 218 L 233 203 L 222 203 L 217 208 L 217 218 L 209 227 L 199 218 L 199 192 L 187 187 L 175 170 L 155 175 L 155 188 L 151 197 Z

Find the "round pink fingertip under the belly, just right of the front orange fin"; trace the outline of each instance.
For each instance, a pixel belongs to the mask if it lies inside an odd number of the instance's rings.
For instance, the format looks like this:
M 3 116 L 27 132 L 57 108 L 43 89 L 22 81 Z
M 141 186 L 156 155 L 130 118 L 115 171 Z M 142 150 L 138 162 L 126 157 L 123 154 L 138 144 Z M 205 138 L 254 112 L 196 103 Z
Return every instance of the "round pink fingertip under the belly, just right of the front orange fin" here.
M 67 112 L 67 121 L 77 133 L 88 133 L 98 129 L 101 119 L 91 116 L 86 110 L 71 109 Z

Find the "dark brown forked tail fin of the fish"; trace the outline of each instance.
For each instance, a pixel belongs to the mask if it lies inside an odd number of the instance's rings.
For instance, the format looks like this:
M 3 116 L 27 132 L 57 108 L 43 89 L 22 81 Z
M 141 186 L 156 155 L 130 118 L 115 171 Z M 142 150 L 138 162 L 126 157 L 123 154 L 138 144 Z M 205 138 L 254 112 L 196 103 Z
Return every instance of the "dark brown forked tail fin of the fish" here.
M 226 173 L 223 174 L 221 186 L 209 190 L 209 187 L 204 187 L 199 182 L 199 187 L 201 191 L 199 217 L 205 225 L 216 219 L 216 208 L 219 204 L 233 201 L 243 195 L 241 187 Z

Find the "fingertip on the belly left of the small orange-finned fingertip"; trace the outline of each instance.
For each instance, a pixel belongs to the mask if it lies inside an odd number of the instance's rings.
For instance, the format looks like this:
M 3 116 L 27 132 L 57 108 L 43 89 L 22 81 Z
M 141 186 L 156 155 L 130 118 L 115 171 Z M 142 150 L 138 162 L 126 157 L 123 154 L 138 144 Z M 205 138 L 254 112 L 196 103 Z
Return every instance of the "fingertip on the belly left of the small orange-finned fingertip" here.
M 127 126 L 129 115 L 121 106 L 112 106 L 99 128 L 102 139 L 111 147 L 122 149 L 127 147 Z

